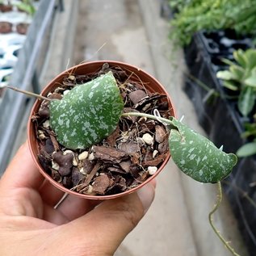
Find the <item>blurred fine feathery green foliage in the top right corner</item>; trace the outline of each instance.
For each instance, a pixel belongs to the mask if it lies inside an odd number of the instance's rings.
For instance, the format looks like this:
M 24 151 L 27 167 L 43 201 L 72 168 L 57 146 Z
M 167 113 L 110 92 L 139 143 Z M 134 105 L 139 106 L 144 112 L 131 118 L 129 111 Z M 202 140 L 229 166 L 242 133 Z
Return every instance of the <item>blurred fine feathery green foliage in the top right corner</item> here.
M 200 30 L 233 29 L 237 34 L 256 34 L 256 2 L 254 0 L 170 0 L 176 6 L 170 37 L 186 45 Z

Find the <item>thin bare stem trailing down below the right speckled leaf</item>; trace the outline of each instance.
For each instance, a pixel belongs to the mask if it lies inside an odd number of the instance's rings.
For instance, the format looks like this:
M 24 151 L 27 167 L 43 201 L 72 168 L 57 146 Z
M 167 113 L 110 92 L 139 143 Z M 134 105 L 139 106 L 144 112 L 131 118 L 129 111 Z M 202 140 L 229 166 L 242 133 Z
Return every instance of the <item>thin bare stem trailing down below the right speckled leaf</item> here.
M 220 238 L 220 241 L 223 242 L 223 244 L 227 247 L 227 249 L 233 254 L 234 256 L 240 256 L 240 254 L 237 254 L 233 247 L 229 246 L 229 242 L 225 240 L 224 237 L 221 236 L 220 232 L 216 229 L 215 225 L 213 224 L 213 213 L 216 212 L 216 210 L 220 207 L 220 203 L 222 200 L 222 188 L 220 181 L 217 183 L 218 186 L 218 194 L 216 199 L 216 204 L 214 205 L 212 211 L 208 215 L 208 219 L 210 222 L 210 225 L 212 226 L 213 231 L 216 233 L 217 237 Z

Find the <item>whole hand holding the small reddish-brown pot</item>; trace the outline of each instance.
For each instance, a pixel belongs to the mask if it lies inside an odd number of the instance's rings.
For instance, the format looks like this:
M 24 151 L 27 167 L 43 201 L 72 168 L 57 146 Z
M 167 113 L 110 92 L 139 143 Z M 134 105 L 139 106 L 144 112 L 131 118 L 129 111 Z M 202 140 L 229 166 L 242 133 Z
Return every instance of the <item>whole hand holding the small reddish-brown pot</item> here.
M 64 193 L 36 170 L 26 143 L 0 179 L 0 255 L 112 255 L 149 208 L 154 185 L 101 204 L 69 195 L 54 209 Z

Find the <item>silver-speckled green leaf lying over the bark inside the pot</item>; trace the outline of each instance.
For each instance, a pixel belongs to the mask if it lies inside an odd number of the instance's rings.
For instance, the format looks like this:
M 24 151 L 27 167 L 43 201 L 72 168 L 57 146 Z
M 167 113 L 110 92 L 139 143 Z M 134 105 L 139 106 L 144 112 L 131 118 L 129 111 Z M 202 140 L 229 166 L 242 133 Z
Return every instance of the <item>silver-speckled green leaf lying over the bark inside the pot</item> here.
M 69 149 L 86 149 L 115 130 L 124 103 L 109 72 L 74 87 L 49 108 L 57 140 Z

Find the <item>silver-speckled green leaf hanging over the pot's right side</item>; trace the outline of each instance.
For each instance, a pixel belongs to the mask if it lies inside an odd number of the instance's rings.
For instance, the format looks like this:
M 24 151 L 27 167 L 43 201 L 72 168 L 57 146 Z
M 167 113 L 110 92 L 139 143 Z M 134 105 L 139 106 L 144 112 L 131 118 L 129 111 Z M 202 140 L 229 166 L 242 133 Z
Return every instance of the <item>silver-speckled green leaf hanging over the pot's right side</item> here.
M 200 183 L 216 183 L 230 174 L 237 163 L 235 154 L 217 149 L 178 120 L 172 122 L 177 129 L 170 130 L 170 154 L 180 170 Z

